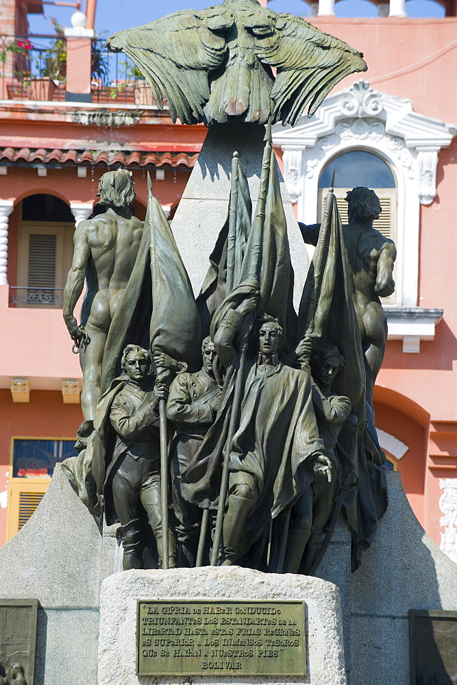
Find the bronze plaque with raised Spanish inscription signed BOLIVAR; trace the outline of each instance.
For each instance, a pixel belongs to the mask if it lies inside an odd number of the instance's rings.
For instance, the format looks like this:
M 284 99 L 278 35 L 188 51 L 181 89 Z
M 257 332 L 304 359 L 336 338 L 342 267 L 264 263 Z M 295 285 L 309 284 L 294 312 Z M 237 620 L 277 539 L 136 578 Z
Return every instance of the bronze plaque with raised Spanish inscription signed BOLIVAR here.
M 138 675 L 306 675 L 303 601 L 138 600 Z

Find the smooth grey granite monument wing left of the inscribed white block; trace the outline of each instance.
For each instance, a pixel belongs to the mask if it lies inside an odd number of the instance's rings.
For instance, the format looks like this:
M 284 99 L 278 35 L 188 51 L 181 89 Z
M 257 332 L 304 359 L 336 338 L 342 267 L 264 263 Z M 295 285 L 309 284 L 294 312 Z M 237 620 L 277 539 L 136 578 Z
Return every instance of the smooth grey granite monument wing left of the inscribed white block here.
M 57 464 L 36 512 L 0 549 L 1 597 L 39 601 L 34 685 L 95 685 L 101 556 L 101 530 Z

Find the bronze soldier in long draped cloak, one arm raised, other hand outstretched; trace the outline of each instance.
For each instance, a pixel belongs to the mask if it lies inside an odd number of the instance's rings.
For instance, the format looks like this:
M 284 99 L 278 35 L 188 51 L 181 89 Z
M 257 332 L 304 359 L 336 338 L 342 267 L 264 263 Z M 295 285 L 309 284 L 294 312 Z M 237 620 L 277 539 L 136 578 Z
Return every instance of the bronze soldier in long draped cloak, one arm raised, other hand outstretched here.
M 230 310 L 214 338 L 224 366 L 233 340 L 256 297 Z M 239 428 L 230 445 L 228 509 L 223 523 L 224 565 L 239 560 L 299 495 L 299 471 L 309 461 L 316 473 L 329 469 L 312 408 L 310 374 L 286 366 L 278 351 L 282 327 L 264 314 L 256 329 Z

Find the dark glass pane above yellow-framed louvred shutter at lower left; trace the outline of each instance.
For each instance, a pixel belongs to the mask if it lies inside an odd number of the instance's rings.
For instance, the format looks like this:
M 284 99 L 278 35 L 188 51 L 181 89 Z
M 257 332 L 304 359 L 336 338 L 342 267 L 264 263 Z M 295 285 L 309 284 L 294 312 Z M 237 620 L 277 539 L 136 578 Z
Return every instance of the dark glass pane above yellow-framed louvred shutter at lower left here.
M 73 440 L 21 440 L 13 445 L 13 478 L 48 478 L 56 462 L 73 457 Z

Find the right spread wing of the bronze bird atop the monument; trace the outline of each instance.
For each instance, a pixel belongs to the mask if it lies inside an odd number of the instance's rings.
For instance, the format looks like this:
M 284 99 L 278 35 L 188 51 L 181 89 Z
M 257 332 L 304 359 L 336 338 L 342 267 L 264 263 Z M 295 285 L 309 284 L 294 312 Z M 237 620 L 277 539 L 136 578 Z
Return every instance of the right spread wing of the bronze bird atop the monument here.
M 293 14 L 277 14 L 271 34 L 256 32 L 256 27 L 251 32 L 260 62 L 277 67 L 271 91 L 273 123 L 295 125 L 311 99 L 312 116 L 341 79 L 367 71 L 362 53 Z

